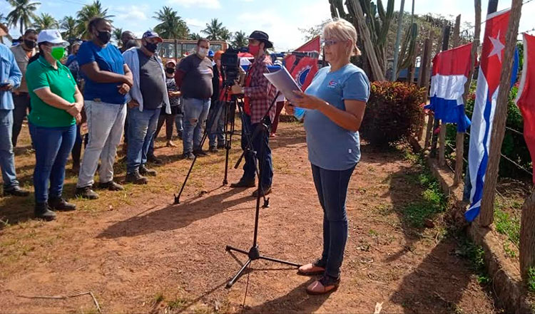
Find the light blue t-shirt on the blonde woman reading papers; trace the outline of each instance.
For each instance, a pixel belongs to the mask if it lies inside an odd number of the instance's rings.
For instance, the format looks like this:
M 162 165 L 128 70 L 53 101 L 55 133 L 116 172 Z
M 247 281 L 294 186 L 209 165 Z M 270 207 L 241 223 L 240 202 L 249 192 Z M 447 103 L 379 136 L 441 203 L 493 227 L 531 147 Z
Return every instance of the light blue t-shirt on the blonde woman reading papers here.
M 351 63 L 335 72 L 330 72 L 330 66 L 327 66 L 317 71 L 305 93 L 345 110 L 344 100 L 367 102 L 370 97 L 370 81 L 362 69 Z M 319 110 L 306 111 L 305 130 L 308 159 L 315 166 L 341 171 L 350 169 L 359 162 L 359 132 L 336 125 Z

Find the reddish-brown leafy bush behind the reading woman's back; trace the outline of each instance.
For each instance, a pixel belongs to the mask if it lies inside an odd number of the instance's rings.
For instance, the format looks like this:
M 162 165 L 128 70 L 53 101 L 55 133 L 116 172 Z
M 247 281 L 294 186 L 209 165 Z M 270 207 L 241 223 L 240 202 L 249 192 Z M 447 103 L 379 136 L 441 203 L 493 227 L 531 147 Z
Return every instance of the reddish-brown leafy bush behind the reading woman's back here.
M 399 82 L 374 82 L 364 120 L 362 138 L 371 145 L 393 144 L 413 135 L 423 123 L 420 104 L 424 89 Z

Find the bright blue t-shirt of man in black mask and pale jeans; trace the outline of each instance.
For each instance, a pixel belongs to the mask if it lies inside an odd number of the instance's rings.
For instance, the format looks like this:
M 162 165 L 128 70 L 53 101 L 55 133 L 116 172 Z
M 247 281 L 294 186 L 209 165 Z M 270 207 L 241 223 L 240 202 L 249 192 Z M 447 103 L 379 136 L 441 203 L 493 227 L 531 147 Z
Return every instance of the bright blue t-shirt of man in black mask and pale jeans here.
M 96 62 L 101 70 L 124 75 L 123 65 L 125 61 L 123 55 L 116 46 L 111 44 L 101 47 L 96 46 L 93 41 L 85 41 L 81 44 L 76 58 L 80 67 Z M 83 98 L 85 100 L 121 105 L 126 103 L 126 95 L 119 93 L 117 87 L 119 83 L 97 83 L 94 80 L 90 80 L 85 74 L 83 74 L 83 78 L 86 80 L 83 90 Z

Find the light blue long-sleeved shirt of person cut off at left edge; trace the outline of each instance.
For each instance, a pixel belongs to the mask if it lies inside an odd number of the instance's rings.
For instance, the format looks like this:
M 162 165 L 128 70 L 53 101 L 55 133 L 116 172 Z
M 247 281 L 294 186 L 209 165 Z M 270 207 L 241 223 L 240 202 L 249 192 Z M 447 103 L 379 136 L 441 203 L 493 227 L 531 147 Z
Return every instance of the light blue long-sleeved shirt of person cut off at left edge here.
M 13 88 L 21 85 L 22 73 L 16 65 L 15 56 L 4 43 L 0 43 L 0 83 L 9 82 Z M 13 110 L 13 96 L 10 91 L 0 92 L 0 110 Z

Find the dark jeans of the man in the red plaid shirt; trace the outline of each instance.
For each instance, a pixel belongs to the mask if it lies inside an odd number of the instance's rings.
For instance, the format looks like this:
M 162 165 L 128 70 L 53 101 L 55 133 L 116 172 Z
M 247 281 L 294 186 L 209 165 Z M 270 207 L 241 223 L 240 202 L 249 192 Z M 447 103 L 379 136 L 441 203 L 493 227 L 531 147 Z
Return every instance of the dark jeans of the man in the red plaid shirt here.
M 256 127 L 260 127 L 260 123 L 255 123 L 251 125 L 251 117 L 249 115 L 243 115 L 243 125 L 242 125 L 242 150 L 247 148 L 248 136 L 253 136 L 253 132 Z M 260 158 L 261 150 L 264 150 L 264 159 L 263 159 L 263 174 L 260 178 L 260 184 L 263 188 L 271 187 L 273 182 L 273 161 L 271 158 L 271 149 L 270 149 L 270 135 L 269 132 L 263 134 L 263 132 L 258 132 L 258 135 L 253 138 L 253 150 L 257 152 L 257 157 L 253 152 L 245 152 L 245 164 L 243 164 L 243 177 L 244 180 L 253 180 L 256 176 L 256 164 L 258 158 Z

